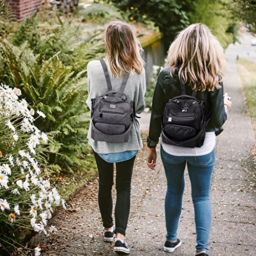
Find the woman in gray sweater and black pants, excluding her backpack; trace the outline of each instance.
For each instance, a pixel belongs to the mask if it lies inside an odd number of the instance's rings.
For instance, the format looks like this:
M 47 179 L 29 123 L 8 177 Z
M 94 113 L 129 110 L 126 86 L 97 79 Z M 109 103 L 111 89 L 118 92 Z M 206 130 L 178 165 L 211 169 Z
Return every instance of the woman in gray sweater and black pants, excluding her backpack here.
M 88 63 L 88 92 L 87 104 L 92 108 L 91 100 L 108 92 L 109 84 L 112 90 L 119 91 L 126 85 L 123 93 L 127 100 L 134 102 L 136 114 L 144 110 L 145 70 L 140 56 L 142 51 L 134 29 L 124 22 L 110 22 L 105 30 L 105 59 L 92 60 Z M 109 75 L 108 75 L 109 74 Z M 107 84 L 106 77 L 110 79 Z M 122 101 L 122 100 L 121 100 Z M 115 105 L 111 106 L 104 115 L 112 115 Z M 121 116 L 121 115 L 120 115 Z M 111 117 L 110 117 L 111 119 Z M 92 120 L 91 120 L 92 123 Z M 131 179 L 136 154 L 143 146 L 139 122 L 135 121 L 131 127 L 129 140 L 123 143 L 113 143 L 94 140 L 92 126 L 88 132 L 89 144 L 93 147 L 99 174 L 98 202 L 103 221 L 103 240 L 112 242 L 115 237 L 114 251 L 129 253 L 130 249 L 124 242 L 125 230 L 130 213 Z M 112 186 L 114 180 L 114 163 L 116 163 L 116 191 L 115 229 L 112 219 Z

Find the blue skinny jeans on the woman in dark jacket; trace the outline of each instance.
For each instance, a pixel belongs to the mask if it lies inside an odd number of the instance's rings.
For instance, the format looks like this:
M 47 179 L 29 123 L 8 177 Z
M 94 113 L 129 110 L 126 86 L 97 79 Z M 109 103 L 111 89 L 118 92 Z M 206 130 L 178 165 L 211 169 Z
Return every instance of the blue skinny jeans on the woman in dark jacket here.
M 161 147 L 161 158 L 167 179 L 165 197 L 166 239 L 175 241 L 182 208 L 184 170 L 187 162 L 195 209 L 197 252 L 208 251 L 211 228 L 210 183 L 215 164 L 215 150 L 203 156 L 173 156 Z

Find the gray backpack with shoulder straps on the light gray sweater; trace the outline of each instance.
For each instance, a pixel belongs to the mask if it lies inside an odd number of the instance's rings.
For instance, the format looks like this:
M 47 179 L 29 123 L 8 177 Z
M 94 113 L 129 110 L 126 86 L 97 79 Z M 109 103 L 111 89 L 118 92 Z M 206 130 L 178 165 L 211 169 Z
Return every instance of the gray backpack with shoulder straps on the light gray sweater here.
M 92 133 L 97 141 L 114 143 L 127 142 L 135 120 L 133 100 L 127 100 L 123 93 L 129 74 L 125 74 L 119 91 L 113 91 L 106 63 L 100 60 L 108 92 L 92 99 Z

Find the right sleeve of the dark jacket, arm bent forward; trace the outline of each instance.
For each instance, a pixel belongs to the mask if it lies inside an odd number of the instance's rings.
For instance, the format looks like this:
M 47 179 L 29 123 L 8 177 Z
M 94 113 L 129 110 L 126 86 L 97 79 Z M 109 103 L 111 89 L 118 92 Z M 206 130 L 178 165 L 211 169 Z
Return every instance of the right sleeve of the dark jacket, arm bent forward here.
M 220 130 L 221 126 L 227 120 L 227 114 L 224 108 L 224 100 L 223 100 L 223 83 L 220 83 L 221 88 L 217 90 L 213 95 L 210 97 L 211 101 L 211 117 L 210 117 L 210 124 L 215 127 L 215 130 Z M 221 129 L 222 130 L 222 129 Z M 219 133 L 217 132 L 217 135 Z

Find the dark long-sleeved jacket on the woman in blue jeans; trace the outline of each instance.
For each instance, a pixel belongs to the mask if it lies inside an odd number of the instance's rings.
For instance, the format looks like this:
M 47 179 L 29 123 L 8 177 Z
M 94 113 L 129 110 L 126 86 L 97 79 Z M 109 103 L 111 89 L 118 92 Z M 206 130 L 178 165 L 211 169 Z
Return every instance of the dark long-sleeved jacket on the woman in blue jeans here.
M 197 98 L 203 100 L 206 104 L 206 116 L 211 111 L 209 123 L 206 132 L 215 132 L 219 135 L 223 129 L 222 125 L 227 119 L 223 101 L 223 83 L 221 82 L 219 90 L 208 92 L 198 91 Z M 186 94 L 192 95 L 191 86 L 186 86 Z M 152 114 L 150 120 L 150 133 L 147 139 L 148 147 L 155 147 L 161 134 L 161 118 L 165 104 L 169 99 L 181 95 L 181 86 L 176 70 L 173 77 L 170 76 L 170 68 L 163 69 L 157 80 L 156 89 L 152 101 Z

